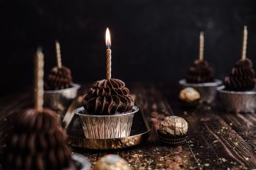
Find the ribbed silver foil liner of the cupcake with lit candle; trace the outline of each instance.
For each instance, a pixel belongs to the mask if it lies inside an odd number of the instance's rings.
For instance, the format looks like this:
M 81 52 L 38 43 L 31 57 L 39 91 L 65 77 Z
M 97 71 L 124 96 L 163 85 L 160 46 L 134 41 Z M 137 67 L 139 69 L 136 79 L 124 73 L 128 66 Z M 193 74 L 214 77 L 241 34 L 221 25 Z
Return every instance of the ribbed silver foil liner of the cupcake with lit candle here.
M 82 129 L 87 139 L 112 139 L 128 137 L 134 114 L 139 111 L 137 106 L 129 113 L 117 115 L 89 115 L 85 108 L 77 108 L 75 114 L 81 119 Z

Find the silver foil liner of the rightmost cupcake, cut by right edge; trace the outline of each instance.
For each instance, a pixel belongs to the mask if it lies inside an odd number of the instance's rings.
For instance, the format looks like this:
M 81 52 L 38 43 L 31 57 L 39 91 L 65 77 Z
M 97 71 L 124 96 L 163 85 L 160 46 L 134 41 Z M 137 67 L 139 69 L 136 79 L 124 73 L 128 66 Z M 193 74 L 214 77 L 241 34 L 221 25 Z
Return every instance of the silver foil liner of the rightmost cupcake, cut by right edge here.
M 218 87 L 218 98 L 228 112 L 255 113 L 256 91 L 226 91 L 225 86 Z

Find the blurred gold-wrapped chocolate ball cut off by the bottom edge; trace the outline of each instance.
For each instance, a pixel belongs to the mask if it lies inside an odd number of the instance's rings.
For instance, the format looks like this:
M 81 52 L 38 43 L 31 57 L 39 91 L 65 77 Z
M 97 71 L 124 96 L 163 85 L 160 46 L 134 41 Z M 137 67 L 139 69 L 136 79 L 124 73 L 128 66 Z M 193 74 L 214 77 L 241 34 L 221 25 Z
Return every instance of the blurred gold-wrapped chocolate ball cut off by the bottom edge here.
M 131 170 L 127 162 L 116 154 L 102 157 L 96 164 L 95 170 Z

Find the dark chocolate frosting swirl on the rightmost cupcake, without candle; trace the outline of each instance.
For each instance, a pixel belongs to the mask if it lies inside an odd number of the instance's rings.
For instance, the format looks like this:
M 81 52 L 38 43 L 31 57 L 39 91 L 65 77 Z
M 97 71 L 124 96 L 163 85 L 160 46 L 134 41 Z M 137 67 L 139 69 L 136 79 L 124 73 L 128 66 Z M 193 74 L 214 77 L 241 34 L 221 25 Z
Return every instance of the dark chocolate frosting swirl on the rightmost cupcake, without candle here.
M 248 91 L 255 88 L 255 71 L 248 58 L 238 60 L 229 77 L 225 77 L 225 89 L 230 91 Z

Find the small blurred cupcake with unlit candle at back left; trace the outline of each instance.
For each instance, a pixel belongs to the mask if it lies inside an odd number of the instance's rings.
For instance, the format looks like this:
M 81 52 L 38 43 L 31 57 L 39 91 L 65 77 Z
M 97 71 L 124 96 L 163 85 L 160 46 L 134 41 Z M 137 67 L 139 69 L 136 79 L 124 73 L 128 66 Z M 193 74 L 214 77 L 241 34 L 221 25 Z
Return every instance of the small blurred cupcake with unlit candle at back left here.
M 46 77 L 45 106 L 54 111 L 65 111 L 78 95 L 80 85 L 74 84 L 70 69 L 61 63 L 60 44 L 55 43 L 57 51 L 57 67 L 53 67 Z

